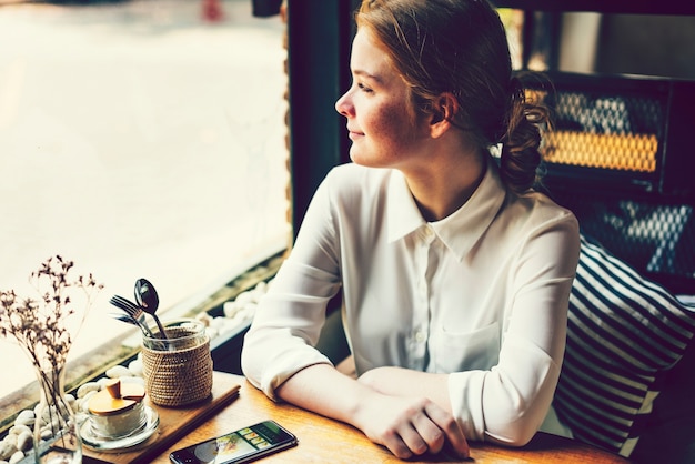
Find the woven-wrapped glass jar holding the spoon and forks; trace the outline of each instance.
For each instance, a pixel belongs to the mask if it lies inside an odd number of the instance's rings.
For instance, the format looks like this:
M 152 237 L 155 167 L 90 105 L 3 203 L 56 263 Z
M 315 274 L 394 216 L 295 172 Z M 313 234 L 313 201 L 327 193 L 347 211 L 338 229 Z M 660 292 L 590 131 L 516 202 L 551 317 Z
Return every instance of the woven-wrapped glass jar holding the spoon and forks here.
M 144 387 L 160 406 L 185 406 L 210 396 L 212 355 L 204 325 L 195 320 L 164 324 L 168 340 L 143 337 Z

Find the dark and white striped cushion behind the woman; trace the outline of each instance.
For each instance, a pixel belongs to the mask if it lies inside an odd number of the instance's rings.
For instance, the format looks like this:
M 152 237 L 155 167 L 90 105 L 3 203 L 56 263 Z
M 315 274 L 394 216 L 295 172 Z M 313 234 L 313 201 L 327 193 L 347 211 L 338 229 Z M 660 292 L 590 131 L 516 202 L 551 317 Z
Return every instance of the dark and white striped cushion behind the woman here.
M 554 407 L 574 437 L 629 456 L 695 313 L 582 238 Z

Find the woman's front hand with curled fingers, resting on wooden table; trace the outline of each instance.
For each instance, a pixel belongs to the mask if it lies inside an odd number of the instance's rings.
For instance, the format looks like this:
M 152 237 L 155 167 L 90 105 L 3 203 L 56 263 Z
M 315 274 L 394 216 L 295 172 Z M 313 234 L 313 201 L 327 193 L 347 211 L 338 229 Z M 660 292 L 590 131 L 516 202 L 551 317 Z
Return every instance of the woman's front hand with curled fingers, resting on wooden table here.
M 459 457 L 469 457 L 469 444 L 452 414 L 424 397 L 374 392 L 360 405 L 354 424 L 400 458 L 436 454 L 446 443 Z

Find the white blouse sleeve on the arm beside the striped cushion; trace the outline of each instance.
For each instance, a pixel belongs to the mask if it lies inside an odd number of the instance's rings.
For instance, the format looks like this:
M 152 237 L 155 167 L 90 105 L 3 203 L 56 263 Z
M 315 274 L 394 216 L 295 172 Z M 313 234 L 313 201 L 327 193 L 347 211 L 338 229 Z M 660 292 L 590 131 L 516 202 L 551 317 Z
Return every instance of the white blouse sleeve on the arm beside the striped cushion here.
M 452 407 L 472 440 L 524 445 L 545 418 L 564 354 L 577 234 L 564 219 L 528 239 L 508 270 L 514 295 L 498 363 L 450 375 Z

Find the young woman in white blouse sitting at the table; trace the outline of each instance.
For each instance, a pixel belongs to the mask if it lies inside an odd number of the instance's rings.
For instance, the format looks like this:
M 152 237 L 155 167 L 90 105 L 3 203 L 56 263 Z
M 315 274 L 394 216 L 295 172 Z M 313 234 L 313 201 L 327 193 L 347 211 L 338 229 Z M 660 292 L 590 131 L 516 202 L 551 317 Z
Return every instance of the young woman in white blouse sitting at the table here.
M 532 190 L 546 112 L 486 0 L 364 0 L 356 22 L 335 104 L 353 163 L 316 191 L 244 373 L 402 458 L 523 445 L 551 408 L 580 246 Z M 313 347 L 341 286 L 356 379 Z

